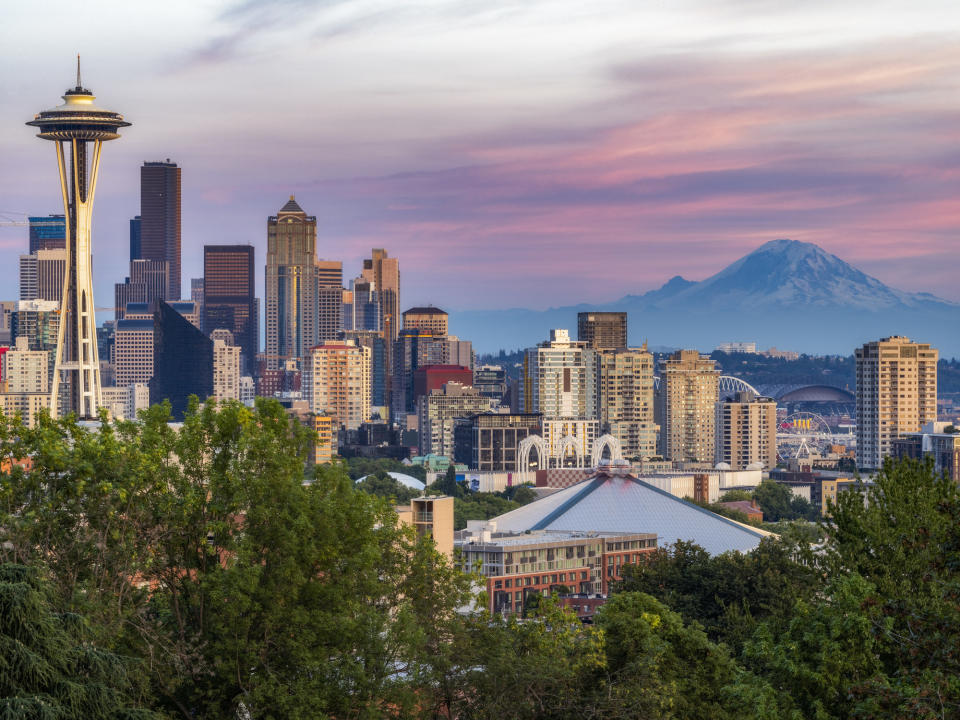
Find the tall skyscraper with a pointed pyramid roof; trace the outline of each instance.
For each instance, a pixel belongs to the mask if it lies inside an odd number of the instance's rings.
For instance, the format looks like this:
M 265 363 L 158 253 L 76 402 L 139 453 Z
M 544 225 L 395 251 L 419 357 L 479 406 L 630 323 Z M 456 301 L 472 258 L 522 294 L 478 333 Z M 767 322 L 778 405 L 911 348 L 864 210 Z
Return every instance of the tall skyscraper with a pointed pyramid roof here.
M 317 338 L 317 218 L 294 197 L 267 220 L 266 366 L 299 361 Z

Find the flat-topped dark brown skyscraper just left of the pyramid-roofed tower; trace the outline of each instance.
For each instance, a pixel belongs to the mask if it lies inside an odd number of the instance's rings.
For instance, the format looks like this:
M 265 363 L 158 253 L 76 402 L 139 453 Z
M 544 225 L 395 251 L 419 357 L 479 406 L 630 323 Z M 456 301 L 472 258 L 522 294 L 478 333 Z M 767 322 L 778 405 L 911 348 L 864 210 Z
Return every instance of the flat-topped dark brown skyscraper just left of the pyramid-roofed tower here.
M 253 375 L 260 327 L 252 245 L 203 246 L 203 329 L 233 333 L 244 375 Z

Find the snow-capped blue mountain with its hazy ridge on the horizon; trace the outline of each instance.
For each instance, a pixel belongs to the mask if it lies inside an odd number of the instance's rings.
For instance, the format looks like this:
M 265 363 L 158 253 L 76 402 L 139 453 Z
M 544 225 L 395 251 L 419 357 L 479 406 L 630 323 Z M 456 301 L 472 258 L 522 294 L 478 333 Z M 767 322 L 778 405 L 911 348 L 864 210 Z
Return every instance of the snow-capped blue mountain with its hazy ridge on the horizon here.
M 727 340 L 849 354 L 882 336 L 960 356 L 960 303 L 891 288 L 813 243 L 773 240 L 699 282 L 679 275 L 611 303 L 451 313 L 451 328 L 484 352 L 529 347 L 550 328 L 576 331 L 577 312 L 624 310 L 630 342 L 710 350 Z

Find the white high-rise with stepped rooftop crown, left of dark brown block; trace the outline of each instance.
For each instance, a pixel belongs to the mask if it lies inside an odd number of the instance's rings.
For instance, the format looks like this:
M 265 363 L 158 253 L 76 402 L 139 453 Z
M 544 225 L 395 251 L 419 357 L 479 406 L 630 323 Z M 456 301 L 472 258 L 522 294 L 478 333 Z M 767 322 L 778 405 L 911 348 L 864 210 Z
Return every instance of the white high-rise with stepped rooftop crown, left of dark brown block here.
M 594 353 L 567 330 L 528 348 L 523 357 L 523 411 L 544 419 L 592 418 L 596 413 Z

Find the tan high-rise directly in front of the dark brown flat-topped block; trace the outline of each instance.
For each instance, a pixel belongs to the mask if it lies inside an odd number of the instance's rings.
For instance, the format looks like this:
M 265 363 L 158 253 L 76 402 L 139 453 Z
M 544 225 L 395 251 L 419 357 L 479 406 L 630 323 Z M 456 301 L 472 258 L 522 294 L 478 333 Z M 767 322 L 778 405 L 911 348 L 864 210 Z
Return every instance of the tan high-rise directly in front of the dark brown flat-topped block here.
M 643 348 L 596 354 L 597 419 L 620 442 L 623 457 L 657 454 L 653 403 L 653 355 Z

